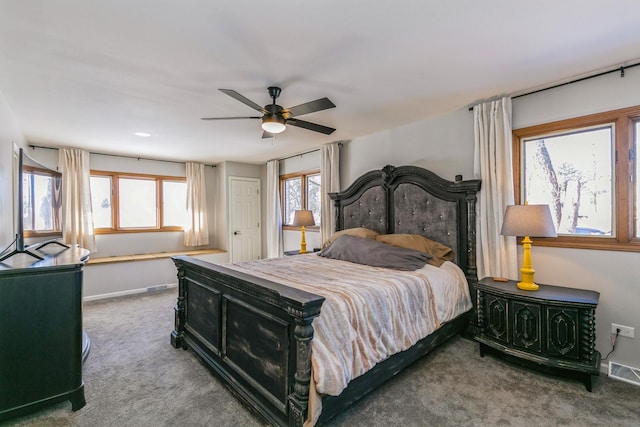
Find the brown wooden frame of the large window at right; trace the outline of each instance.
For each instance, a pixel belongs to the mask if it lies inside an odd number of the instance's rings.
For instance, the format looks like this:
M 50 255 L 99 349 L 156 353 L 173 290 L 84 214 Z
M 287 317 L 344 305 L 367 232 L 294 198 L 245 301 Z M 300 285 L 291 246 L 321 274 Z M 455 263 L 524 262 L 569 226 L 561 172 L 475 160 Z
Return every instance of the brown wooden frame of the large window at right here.
M 640 252 L 640 238 L 636 238 L 635 228 L 635 186 L 640 185 L 635 175 L 634 150 L 635 125 L 640 122 L 640 106 L 605 111 L 586 116 L 558 120 L 541 125 L 515 129 L 513 136 L 513 180 L 515 203 L 522 203 L 522 141 L 547 135 L 572 132 L 582 128 L 611 124 L 613 127 L 613 227 L 615 236 L 558 236 L 538 237 L 537 246 L 596 249 L 609 251 Z M 640 212 L 636 212 L 640 215 Z M 520 243 L 520 241 L 519 241 Z

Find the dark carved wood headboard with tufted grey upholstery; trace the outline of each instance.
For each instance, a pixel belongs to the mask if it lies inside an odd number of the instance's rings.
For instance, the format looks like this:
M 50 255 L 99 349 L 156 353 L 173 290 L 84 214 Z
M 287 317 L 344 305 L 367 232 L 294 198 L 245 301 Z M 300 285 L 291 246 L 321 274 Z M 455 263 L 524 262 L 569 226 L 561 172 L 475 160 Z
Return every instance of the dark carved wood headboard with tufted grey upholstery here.
M 479 190 L 477 179 L 448 181 L 417 166 L 387 165 L 329 196 L 336 209 L 336 231 L 365 227 L 381 234 L 423 235 L 453 248 L 455 262 L 468 278 L 477 279 Z

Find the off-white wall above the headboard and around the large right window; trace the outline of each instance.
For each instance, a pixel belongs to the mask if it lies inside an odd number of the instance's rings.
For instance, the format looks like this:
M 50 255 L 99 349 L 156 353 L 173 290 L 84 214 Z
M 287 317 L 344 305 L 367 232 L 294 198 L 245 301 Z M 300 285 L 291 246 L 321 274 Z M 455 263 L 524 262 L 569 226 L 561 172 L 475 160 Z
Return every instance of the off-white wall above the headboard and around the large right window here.
M 640 70 L 607 75 L 513 100 L 513 128 L 640 104 Z M 386 164 L 417 165 L 446 179 L 473 178 L 473 113 L 467 108 L 346 144 L 341 187 Z M 640 367 L 640 253 L 585 249 L 533 248 L 536 281 L 600 292 L 596 348 L 611 350 L 610 325 L 636 329 L 636 338 L 619 338 L 609 359 Z M 522 262 L 519 249 L 518 263 Z M 516 279 L 516 278 L 514 278 Z

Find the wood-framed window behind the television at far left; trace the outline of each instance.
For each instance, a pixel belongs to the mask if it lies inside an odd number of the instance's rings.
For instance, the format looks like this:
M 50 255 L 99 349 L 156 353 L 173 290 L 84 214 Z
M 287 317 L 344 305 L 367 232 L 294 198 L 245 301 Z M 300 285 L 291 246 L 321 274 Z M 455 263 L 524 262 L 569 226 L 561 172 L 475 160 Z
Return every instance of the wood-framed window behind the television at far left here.
M 61 227 L 60 173 L 32 166 L 22 167 L 22 224 L 25 236 L 59 234 Z

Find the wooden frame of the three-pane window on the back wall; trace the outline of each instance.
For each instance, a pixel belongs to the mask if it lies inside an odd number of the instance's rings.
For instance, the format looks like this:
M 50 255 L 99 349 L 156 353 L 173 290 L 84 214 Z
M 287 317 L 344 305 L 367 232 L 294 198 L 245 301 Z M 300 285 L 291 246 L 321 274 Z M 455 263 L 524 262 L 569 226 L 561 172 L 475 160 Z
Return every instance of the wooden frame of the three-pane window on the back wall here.
M 155 232 L 172 232 L 172 231 L 184 231 L 184 227 L 180 226 L 163 226 L 164 212 L 163 195 L 162 195 L 162 183 L 164 181 L 186 182 L 187 178 L 182 176 L 170 176 L 170 175 L 153 175 L 153 174 L 141 174 L 132 172 L 113 172 L 113 171 L 101 171 L 91 170 L 90 176 L 107 176 L 111 178 L 111 218 L 112 227 L 95 228 L 95 234 L 123 234 L 123 233 L 155 233 Z M 149 181 L 155 181 L 156 187 L 156 226 L 155 227 L 120 227 L 120 198 L 118 195 L 119 185 L 116 184 L 120 178 L 125 179 L 143 179 Z

